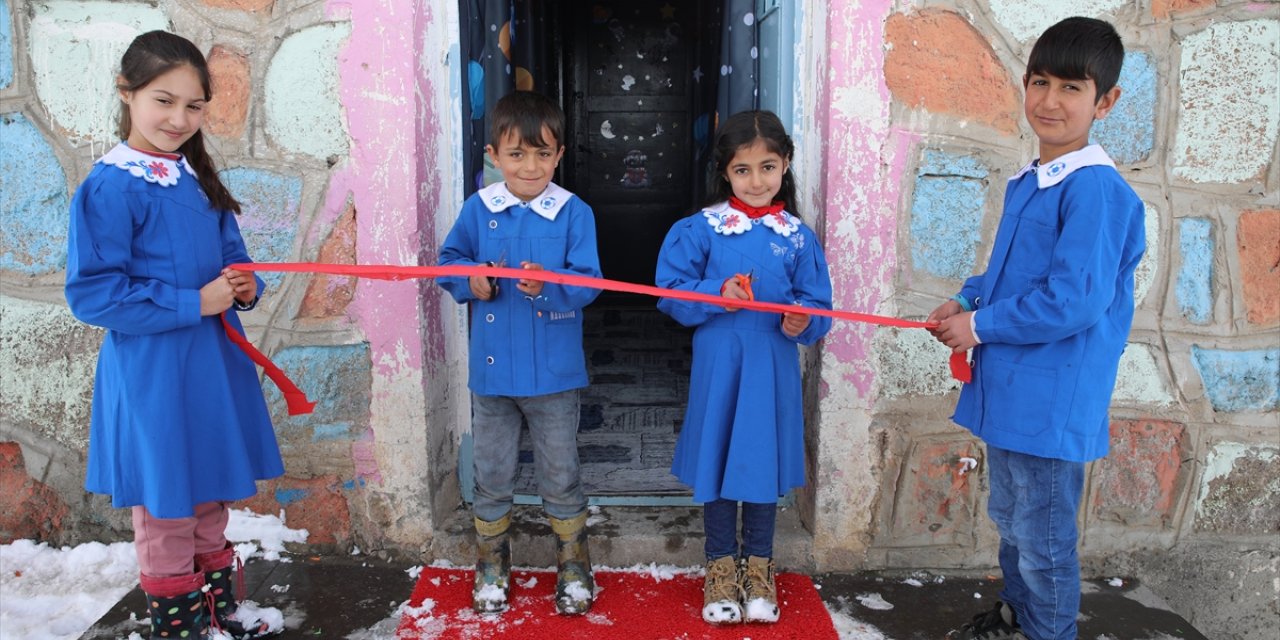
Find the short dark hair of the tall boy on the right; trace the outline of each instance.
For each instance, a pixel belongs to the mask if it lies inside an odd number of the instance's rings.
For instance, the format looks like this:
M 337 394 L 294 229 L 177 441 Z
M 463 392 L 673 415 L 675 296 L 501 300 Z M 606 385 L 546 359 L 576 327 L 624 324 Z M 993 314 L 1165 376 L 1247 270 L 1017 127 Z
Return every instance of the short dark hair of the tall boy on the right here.
M 1098 93 L 1111 91 L 1124 67 L 1124 44 L 1115 27 L 1096 18 L 1068 18 L 1047 29 L 1032 47 L 1027 74 L 1092 79 Z

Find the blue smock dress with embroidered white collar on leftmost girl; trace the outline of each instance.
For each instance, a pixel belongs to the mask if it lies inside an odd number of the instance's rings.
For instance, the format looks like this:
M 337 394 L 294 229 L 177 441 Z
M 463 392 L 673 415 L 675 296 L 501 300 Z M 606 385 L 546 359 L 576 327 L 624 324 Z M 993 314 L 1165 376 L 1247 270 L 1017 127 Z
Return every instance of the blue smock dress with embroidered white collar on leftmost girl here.
M 115 507 L 191 517 L 284 472 L 253 362 L 200 315 L 200 288 L 234 262 L 250 262 L 236 215 L 210 207 L 180 157 L 120 143 L 76 191 L 67 303 L 106 329 L 84 488 Z

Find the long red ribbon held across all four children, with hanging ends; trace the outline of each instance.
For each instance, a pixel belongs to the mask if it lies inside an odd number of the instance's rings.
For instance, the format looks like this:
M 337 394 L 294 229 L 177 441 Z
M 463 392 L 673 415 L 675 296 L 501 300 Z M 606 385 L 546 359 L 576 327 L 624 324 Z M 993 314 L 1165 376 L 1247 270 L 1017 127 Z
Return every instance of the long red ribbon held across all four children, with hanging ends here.
M 531 269 L 515 269 L 508 266 L 396 266 L 396 265 L 333 265 L 321 262 L 246 262 L 230 265 L 232 269 L 241 271 L 271 271 L 271 273 L 301 273 L 301 274 L 328 274 L 328 275 L 347 275 L 356 278 L 372 278 L 375 280 L 410 280 L 417 278 L 470 278 L 472 275 L 480 275 L 485 278 L 511 278 L 511 279 L 525 279 L 525 280 L 539 280 L 552 284 L 564 284 L 568 287 L 586 287 L 591 289 L 603 291 L 616 291 L 623 293 L 639 293 L 641 296 L 652 296 L 655 298 L 672 298 L 684 300 L 687 302 L 705 302 L 708 305 L 726 306 L 726 300 L 721 296 L 712 296 L 709 293 L 696 293 L 691 291 L 680 289 L 664 289 L 662 287 L 653 287 L 648 284 L 636 284 L 622 280 L 609 280 L 607 278 L 591 278 L 589 275 L 577 274 L 562 274 L 557 271 L 545 270 L 531 270 Z M 882 326 L 899 326 L 902 329 L 931 329 L 937 326 L 937 323 L 922 323 L 918 320 L 902 320 L 891 316 L 879 316 L 874 314 L 859 314 L 856 311 L 840 311 L 833 308 L 817 308 L 817 307 L 801 307 L 796 305 L 782 305 L 778 302 L 762 302 L 758 300 L 735 300 L 732 306 L 737 308 L 750 308 L 753 311 L 769 311 L 773 314 L 809 314 L 815 316 L 827 316 L 837 320 L 852 320 L 855 323 L 876 324 Z M 223 320 L 224 325 L 227 320 Z M 244 340 L 238 333 L 227 325 L 227 333 L 234 334 L 233 342 L 241 344 L 241 348 L 253 358 L 255 362 L 262 365 L 266 370 L 266 375 L 275 381 L 280 390 L 284 392 L 285 401 L 289 402 L 289 415 L 294 413 L 293 402 L 298 402 L 300 406 L 306 406 L 303 413 L 310 412 L 315 403 L 311 403 L 302 396 L 293 383 L 284 376 L 284 372 L 279 370 L 266 356 L 261 355 L 257 349 L 253 349 L 248 340 Z M 247 348 L 246 348 L 247 347 Z M 252 349 L 252 351 L 250 351 Z M 973 379 L 973 369 L 969 366 L 969 361 L 965 358 L 964 353 L 951 353 L 951 376 L 961 383 L 968 383 Z M 275 371 L 273 374 L 273 370 Z M 291 392 L 296 396 L 291 398 Z

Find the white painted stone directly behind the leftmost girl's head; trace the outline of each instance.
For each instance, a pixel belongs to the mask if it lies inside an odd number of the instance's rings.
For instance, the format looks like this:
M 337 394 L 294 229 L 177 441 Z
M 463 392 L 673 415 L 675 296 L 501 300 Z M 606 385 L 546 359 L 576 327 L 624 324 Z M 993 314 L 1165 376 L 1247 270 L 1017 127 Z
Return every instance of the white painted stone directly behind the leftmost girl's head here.
M 116 140 L 120 55 L 140 33 L 169 28 L 148 4 L 33 3 L 27 37 L 36 95 L 73 142 Z

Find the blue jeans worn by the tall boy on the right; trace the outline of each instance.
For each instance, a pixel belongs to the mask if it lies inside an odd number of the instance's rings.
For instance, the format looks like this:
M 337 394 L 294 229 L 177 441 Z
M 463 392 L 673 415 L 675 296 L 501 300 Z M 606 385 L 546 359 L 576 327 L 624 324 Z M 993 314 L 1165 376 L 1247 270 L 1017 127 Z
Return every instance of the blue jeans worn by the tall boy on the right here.
M 991 500 L 1000 531 L 1000 599 L 1032 640 L 1075 639 L 1080 612 L 1079 532 L 1084 463 L 987 445 Z

